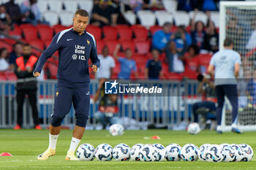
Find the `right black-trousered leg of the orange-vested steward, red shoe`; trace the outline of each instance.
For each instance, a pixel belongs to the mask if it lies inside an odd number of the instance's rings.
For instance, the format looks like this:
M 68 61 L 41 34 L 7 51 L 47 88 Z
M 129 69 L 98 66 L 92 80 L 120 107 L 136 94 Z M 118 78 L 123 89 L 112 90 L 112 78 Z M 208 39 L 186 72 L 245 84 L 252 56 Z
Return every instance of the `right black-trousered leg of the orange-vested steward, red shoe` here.
M 39 125 L 39 117 L 38 117 L 38 110 L 37 110 L 37 90 L 26 90 L 29 95 L 29 103 L 32 108 L 32 116 L 34 120 L 34 126 L 36 129 L 41 129 Z

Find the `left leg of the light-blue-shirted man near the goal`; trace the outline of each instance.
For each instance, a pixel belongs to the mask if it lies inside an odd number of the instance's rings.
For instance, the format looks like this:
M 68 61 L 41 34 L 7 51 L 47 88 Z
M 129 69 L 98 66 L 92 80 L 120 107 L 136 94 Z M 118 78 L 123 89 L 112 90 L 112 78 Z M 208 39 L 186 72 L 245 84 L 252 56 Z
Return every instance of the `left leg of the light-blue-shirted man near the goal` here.
M 216 117 L 217 117 L 217 133 L 221 134 L 222 131 L 220 129 L 220 125 L 222 123 L 222 109 L 223 109 L 223 104 L 224 104 L 224 90 L 223 90 L 223 85 L 217 85 L 215 90 L 217 94 L 217 109 L 216 109 Z

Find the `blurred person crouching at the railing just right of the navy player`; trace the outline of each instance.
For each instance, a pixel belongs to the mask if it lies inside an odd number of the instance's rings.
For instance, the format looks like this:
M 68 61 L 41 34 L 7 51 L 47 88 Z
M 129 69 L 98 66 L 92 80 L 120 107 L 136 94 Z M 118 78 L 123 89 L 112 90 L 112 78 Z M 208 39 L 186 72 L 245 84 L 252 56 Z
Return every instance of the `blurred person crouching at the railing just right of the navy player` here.
M 99 87 L 94 95 L 94 103 L 99 101 L 99 110 L 95 113 L 95 119 L 102 124 L 103 129 L 108 124 L 120 124 L 121 120 L 118 117 L 118 104 L 116 94 L 105 94 L 106 79 L 99 80 Z

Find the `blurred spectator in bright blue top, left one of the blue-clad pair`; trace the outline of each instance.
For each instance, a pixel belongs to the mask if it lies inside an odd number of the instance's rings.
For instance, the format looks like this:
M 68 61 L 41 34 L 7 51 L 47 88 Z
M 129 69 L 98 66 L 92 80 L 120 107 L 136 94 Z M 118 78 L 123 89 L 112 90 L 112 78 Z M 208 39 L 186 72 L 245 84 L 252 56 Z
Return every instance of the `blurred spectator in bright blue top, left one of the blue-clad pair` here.
M 170 40 L 171 23 L 165 23 L 162 30 L 156 31 L 152 38 L 152 48 L 159 50 L 160 53 L 165 52 L 167 42 Z

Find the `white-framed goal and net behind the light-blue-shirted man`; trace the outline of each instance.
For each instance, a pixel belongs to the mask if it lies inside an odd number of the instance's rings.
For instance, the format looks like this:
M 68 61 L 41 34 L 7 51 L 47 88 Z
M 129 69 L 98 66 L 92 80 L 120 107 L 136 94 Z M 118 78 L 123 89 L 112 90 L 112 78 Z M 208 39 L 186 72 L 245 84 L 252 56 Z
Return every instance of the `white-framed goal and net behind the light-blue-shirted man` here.
M 256 1 L 221 1 L 219 49 L 226 37 L 233 39 L 241 55 L 238 80 L 238 128 L 256 131 Z M 222 113 L 222 130 L 230 131 L 232 107 L 227 98 Z

